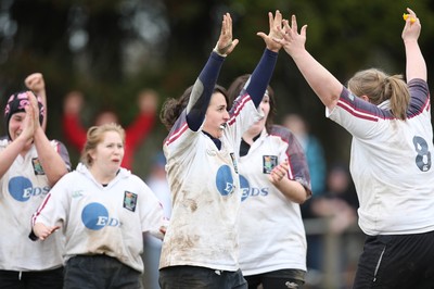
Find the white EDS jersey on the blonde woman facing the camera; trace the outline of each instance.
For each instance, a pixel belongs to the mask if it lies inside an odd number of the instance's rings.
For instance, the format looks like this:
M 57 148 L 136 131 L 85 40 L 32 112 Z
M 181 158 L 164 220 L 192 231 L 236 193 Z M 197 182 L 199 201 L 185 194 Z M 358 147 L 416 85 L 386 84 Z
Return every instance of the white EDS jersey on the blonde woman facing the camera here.
M 143 272 L 142 233 L 158 235 L 164 217 L 154 193 L 129 171 L 120 168 L 107 186 L 102 186 L 78 164 L 51 189 L 31 223 L 62 226 L 65 262 L 75 255 L 106 254 Z M 62 233 L 53 235 L 58 234 Z

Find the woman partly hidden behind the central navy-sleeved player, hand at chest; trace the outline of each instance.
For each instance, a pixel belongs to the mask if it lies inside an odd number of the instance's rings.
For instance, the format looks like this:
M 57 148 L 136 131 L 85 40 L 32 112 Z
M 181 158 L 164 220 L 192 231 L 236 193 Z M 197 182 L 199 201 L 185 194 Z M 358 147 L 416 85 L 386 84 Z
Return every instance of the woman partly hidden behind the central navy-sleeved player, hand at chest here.
M 248 77 L 235 78 L 229 100 L 246 93 Z M 240 267 L 250 289 L 302 288 L 307 246 L 299 204 L 311 196 L 306 156 L 295 135 L 273 124 L 271 86 L 259 108 L 264 118 L 240 139 Z

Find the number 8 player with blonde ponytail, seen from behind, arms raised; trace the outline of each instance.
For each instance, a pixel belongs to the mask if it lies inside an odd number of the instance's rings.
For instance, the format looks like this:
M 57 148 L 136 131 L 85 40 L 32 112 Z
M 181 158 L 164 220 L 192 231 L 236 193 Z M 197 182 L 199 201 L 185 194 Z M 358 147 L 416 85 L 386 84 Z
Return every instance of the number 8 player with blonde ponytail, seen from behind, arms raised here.
M 305 49 L 306 25 L 295 16 L 276 39 L 327 106 L 327 116 L 353 136 L 350 173 L 367 235 L 354 288 L 432 288 L 434 285 L 433 129 L 426 65 L 418 45 L 420 20 L 407 9 L 401 38 L 406 80 L 370 68 L 344 87 Z

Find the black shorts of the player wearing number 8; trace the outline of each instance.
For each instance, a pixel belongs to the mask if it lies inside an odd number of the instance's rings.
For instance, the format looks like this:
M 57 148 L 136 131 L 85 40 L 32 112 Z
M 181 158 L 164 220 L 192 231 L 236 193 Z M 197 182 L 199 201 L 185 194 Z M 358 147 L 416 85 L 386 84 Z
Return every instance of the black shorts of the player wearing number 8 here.
M 353 288 L 434 288 L 434 231 L 369 236 Z

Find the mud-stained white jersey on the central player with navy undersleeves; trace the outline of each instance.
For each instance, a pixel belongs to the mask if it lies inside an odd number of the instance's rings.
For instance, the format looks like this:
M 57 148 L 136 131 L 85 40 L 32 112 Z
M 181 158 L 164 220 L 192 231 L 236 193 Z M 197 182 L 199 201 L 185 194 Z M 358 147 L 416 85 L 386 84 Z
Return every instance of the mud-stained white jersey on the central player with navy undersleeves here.
M 186 111 L 164 143 L 173 193 L 170 224 L 159 267 L 191 265 L 237 271 L 237 217 L 241 202 L 240 139 L 260 116 L 250 96 L 238 99 L 221 137 L 221 150 L 187 125 Z

